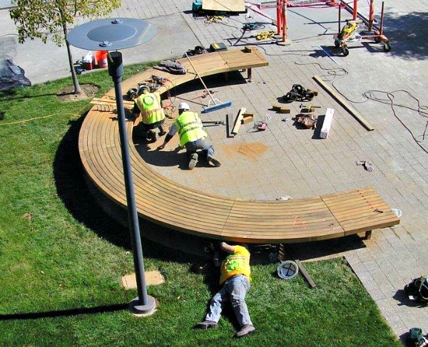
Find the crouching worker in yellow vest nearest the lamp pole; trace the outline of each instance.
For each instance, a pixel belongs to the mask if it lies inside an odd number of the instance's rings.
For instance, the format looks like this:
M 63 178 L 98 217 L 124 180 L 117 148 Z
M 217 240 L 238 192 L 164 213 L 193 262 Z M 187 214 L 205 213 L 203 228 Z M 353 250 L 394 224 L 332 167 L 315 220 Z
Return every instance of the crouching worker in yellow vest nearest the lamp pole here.
M 132 113 L 134 119 L 141 113 L 141 122 L 133 129 L 133 133 L 149 142 L 155 142 L 156 133 L 152 131 L 153 129 L 159 128 L 160 136 L 166 134 L 163 130 L 165 113 L 161 105 L 161 95 L 157 92 L 151 93 L 148 88 L 140 88 L 138 91 L 140 95 L 134 99 Z

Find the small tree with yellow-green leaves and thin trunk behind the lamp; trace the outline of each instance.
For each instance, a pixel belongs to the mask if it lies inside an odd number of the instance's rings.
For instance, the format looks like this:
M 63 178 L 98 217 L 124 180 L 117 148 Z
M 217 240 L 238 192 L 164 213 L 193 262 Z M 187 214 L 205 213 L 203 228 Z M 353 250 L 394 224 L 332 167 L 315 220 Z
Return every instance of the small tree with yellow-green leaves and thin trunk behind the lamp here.
M 74 93 L 80 93 L 70 45 L 65 39 L 68 30 L 77 16 L 88 19 L 106 16 L 121 6 L 121 0 L 15 0 L 14 4 L 18 7 L 11 9 L 10 15 L 18 28 L 19 43 L 26 38 L 41 38 L 44 43 L 50 38 L 57 46 L 65 42 Z

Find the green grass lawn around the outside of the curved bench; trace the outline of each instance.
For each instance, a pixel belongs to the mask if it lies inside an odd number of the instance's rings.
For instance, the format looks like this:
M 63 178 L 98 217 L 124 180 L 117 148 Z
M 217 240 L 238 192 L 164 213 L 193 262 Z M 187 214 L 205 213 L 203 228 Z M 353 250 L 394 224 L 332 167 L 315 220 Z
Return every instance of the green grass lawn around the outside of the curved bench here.
M 128 76 L 143 66 L 126 68 Z M 81 83 L 113 87 L 106 71 Z M 0 94 L 0 346 L 401 346 L 342 259 L 306 264 L 317 283 L 277 279 L 277 265 L 253 266 L 248 306 L 257 331 L 233 338 L 230 310 L 217 329 L 194 330 L 218 281 L 200 259 L 143 240 L 149 286 L 160 303 L 148 318 L 126 309 L 136 291 L 129 232 L 88 192 L 77 135 L 89 100 L 59 103 L 63 79 Z M 48 118 L 19 122 L 29 118 Z

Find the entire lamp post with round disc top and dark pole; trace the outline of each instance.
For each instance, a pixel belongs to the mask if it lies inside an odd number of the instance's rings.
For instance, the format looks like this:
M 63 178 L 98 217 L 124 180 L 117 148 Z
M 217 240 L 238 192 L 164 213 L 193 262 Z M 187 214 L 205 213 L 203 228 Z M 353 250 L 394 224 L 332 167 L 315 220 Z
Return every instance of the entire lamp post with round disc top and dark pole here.
M 154 26 L 146 21 L 132 18 L 100 19 L 72 29 L 67 41 L 72 46 L 91 51 L 113 51 L 108 54 L 108 74 L 113 79 L 116 93 L 119 136 L 125 180 L 126 202 L 128 204 L 128 224 L 131 231 L 134 268 L 136 271 L 138 297 L 130 303 L 136 314 L 150 314 L 156 307 L 155 299 L 147 295 L 144 275 L 143 247 L 133 188 L 131 160 L 129 158 L 128 135 L 126 133 L 125 109 L 123 108 L 121 80 L 123 76 L 122 54 L 118 49 L 130 48 L 147 42 L 156 34 Z

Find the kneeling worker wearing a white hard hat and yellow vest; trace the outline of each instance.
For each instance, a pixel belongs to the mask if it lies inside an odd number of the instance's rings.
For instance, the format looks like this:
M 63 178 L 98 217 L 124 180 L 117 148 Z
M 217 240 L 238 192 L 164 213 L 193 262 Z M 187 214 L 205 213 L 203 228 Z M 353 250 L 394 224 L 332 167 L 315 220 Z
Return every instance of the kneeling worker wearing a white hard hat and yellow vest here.
M 189 170 L 192 170 L 196 162 L 198 162 L 198 153 L 196 150 L 202 150 L 206 155 L 207 161 L 215 167 L 219 167 L 220 162 L 214 157 L 213 145 L 207 139 L 208 135 L 203 130 L 203 124 L 198 113 L 190 112 L 189 110 L 190 108 L 187 103 L 180 103 L 178 105 L 178 117 L 171 126 L 163 144 L 158 147 L 158 150 L 162 150 L 175 133 L 178 133 L 180 146 L 185 147 L 190 159 Z

